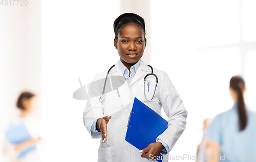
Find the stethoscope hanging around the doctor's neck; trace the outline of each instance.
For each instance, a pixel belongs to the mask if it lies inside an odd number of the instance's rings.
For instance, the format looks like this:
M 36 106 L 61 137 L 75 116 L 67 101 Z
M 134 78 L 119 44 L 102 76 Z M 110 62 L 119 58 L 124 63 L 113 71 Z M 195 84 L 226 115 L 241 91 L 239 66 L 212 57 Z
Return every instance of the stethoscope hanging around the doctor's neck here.
M 112 69 L 114 66 L 115 66 L 115 65 L 111 66 L 110 69 L 109 69 L 109 71 L 108 71 L 108 73 L 106 73 L 106 78 L 105 78 L 104 87 L 103 87 L 103 90 L 102 90 L 102 95 L 100 95 L 100 97 L 99 97 L 99 102 L 101 102 L 101 104 L 103 104 L 104 101 L 105 101 L 106 79 L 108 79 L 109 72 L 111 71 L 111 69 Z M 157 88 L 157 83 L 158 83 L 158 78 L 157 78 L 157 75 L 155 75 L 155 74 L 153 73 L 153 67 L 152 67 L 151 65 L 147 65 L 147 66 L 150 66 L 150 68 L 151 68 L 151 73 L 145 75 L 145 77 L 144 77 L 144 96 L 145 96 L 146 101 L 151 102 L 151 101 L 153 101 L 153 98 L 154 98 L 154 96 L 155 96 L 155 92 L 156 92 L 156 88 Z M 148 76 L 150 76 L 150 75 L 155 76 L 155 78 L 156 78 L 156 85 L 155 85 L 154 94 L 153 94 L 152 98 L 151 98 L 150 100 L 147 100 L 147 98 L 146 98 L 146 93 L 145 93 L 145 82 L 146 82 L 146 77 L 148 77 Z M 150 86 L 149 83 L 150 83 L 150 82 L 148 81 L 148 83 L 147 83 L 147 85 L 148 85 L 148 90 L 149 90 L 149 86 Z

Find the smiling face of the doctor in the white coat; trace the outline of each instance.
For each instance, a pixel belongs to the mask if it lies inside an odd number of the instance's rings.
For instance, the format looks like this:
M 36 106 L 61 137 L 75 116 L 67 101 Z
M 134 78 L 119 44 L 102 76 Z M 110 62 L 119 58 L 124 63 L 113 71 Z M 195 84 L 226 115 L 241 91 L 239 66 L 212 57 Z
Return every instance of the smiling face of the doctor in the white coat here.
M 134 23 L 122 26 L 118 39 L 114 39 L 114 45 L 121 62 L 125 66 L 131 66 L 139 61 L 146 47 L 146 38 L 142 29 Z

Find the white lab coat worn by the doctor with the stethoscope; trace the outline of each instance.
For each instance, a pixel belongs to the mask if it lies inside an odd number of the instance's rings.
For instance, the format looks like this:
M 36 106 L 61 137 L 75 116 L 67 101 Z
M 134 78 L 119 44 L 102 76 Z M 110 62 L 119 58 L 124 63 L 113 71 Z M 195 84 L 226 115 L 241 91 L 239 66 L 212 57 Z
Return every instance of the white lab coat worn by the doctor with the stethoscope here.
M 93 122 L 106 115 L 112 116 L 112 119 L 110 119 L 110 122 L 107 124 L 108 141 L 104 144 L 100 141 L 98 161 L 148 161 L 141 157 L 141 153 L 137 148 L 124 140 L 127 130 L 127 122 L 135 97 L 140 101 L 144 101 L 148 107 L 152 108 L 160 115 L 161 108 L 163 107 L 164 112 L 168 117 L 168 128 L 159 135 L 158 138 L 165 142 L 170 150 L 184 131 L 187 111 L 185 110 L 183 102 L 168 75 L 163 71 L 159 71 L 155 68 L 153 69 L 154 74 L 158 77 L 158 86 L 153 102 L 145 102 L 143 79 L 146 74 L 151 73 L 151 68 L 142 60 L 130 86 L 125 82 L 118 88 L 121 102 L 117 90 L 105 94 L 105 102 L 103 105 L 99 102 L 99 96 L 88 99 L 86 108 L 83 112 L 83 123 L 90 132 L 92 138 L 101 138 L 101 135 L 97 135 L 90 130 Z M 105 78 L 107 72 L 108 70 L 105 70 L 96 75 L 94 81 Z M 118 62 L 110 71 L 109 76 L 123 76 Z M 150 88 L 154 88 L 153 84 L 151 84 L 151 86 L 152 87 Z M 103 85 L 99 85 L 94 91 L 96 94 L 101 94 L 102 89 Z

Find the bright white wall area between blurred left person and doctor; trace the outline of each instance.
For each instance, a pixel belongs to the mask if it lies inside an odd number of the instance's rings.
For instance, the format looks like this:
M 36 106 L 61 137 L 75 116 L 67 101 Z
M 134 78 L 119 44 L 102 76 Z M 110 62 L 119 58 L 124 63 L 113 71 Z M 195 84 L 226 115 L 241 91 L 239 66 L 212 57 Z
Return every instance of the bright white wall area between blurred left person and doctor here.
M 96 161 L 100 140 L 83 125 L 86 101 L 73 92 L 118 61 L 119 1 L 42 1 L 44 161 Z

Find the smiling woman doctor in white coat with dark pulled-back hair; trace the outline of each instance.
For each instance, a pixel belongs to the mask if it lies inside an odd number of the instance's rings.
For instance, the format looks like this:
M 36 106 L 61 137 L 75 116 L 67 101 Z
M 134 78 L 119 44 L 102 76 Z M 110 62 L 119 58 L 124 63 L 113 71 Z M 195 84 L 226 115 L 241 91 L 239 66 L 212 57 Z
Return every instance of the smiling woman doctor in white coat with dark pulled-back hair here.
M 187 111 L 168 75 L 156 68 L 153 71 L 158 77 L 158 85 L 154 99 L 145 100 L 143 79 L 152 69 L 141 60 L 146 47 L 144 19 L 134 13 L 124 13 L 115 19 L 114 32 L 114 47 L 120 59 L 110 71 L 108 68 L 96 75 L 94 81 L 104 79 L 109 71 L 109 76 L 123 76 L 125 83 L 118 88 L 118 93 L 117 90 L 106 93 L 103 103 L 99 102 L 99 96 L 89 96 L 83 123 L 92 138 L 101 138 L 98 161 L 152 160 L 151 157 L 172 150 L 186 127 Z M 102 89 L 103 85 L 99 84 L 94 89 L 95 94 L 100 94 Z M 168 117 L 168 128 L 143 150 L 124 140 L 135 97 L 160 115 L 163 108 Z

